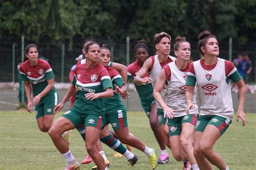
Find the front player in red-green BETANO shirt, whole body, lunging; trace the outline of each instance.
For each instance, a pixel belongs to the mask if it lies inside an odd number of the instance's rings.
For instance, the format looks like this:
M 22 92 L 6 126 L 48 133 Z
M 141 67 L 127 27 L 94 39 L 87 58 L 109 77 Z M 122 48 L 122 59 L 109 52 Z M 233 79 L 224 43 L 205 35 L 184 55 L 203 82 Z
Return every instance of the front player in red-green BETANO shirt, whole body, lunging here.
M 99 129 L 102 124 L 102 118 L 104 117 L 103 98 L 113 96 L 113 90 L 109 73 L 107 73 L 107 70 L 102 65 L 98 64 L 99 54 L 100 48 L 96 42 L 90 42 L 86 46 L 86 63 L 79 64 L 78 62 L 73 82 L 62 102 L 54 110 L 58 112 L 62 109 L 74 91 L 77 90 L 74 107 L 65 112 L 62 117 L 59 117 L 49 130 L 49 135 L 53 143 L 66 159 L 66 169 L 78 168 L 79 163 L 71 154 L 69 146 L 65 143 L 61 134 L 66 130 L 78 128 L 81 124 L 85 125 L 85 145 L 87 152 L 98 169 L 106 168 L 104 159 L 97 152 L 95 143 L 99 139 Z

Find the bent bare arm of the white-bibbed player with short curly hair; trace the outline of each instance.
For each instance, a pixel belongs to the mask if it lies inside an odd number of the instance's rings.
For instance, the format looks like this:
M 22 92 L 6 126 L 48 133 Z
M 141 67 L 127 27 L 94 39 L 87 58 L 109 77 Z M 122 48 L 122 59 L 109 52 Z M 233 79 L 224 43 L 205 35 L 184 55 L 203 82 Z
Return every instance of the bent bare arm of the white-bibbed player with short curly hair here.
M 144 77 L 143 76 L 146 74 L 147 70 L 149 70 L 149 68 L 152 65 L 152 59 L 148 58 L 142 68 L 140 68 L 139 72 L 137 73 L 137 75 L 134 77 L 133 82 L 137 83 L 138 85 L 142 85 L 142 84 L 146 84 L 152 81 L 152 79 L 150 79 L 150 77 Z

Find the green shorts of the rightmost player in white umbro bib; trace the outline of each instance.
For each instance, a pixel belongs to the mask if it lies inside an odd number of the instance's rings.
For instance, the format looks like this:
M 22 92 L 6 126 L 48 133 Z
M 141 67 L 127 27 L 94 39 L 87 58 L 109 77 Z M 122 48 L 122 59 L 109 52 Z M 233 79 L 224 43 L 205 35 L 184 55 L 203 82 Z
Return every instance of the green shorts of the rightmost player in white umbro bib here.
M 220 136 L 227 130 L 228 126 L 232 123 L 231 119 L 227 119 L 215 115 L 199 116 L 196 123 L 196 130 L 203 132 L 207 125 L 213 125 L 220 131 Z

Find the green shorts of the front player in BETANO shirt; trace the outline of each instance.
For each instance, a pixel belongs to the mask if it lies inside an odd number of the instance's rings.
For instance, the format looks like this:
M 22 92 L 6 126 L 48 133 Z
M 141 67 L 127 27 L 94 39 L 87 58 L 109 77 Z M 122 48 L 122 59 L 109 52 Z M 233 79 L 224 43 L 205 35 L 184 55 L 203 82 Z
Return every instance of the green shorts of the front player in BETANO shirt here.
M 72 122 L 76 129 L 80 128 L 83 124 L 85 127 L 91 126 L 97 129 L 100 129 L 102 126 L 102 116 L 99 114 L 81 114 L 74 108 L 66 111 L 62 117 Z

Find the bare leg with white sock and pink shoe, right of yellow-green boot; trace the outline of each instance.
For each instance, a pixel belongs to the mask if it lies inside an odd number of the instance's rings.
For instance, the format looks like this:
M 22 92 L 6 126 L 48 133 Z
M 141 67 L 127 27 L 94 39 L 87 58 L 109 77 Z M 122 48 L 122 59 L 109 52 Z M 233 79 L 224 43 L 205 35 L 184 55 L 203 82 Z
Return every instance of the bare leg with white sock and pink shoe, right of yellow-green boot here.
M 151 129 L 154 133 L 154 137 L 157 139 L 157 143 L 160 146 L 160 150 L 161 150 L 160 158 L 158 159 L 158 164 L 166 164 L 166 162 L 169 161 L 169 154 L 166 150 L 165 140 L 161 134 L 161 129 L 158 124 L 157 118 L 158 118 L 157 117 L 157 104 L 153 103 L 151 105 L 151 114 L 149 115 L 149 119 L 150 119 Z

